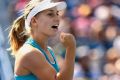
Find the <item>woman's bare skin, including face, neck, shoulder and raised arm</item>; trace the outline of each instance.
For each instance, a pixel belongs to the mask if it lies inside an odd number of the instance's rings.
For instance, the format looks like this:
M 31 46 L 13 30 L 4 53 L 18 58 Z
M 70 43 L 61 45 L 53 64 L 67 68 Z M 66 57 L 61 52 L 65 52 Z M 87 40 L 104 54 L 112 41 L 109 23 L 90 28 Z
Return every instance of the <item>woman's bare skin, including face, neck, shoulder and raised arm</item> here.
M 53 25 L 59 25 L 59 22 L 56 8 L 42 11 L 31 20 L 30 36 L 39 43 L 51 61 L 53 58 L 47 50 L 47 41 L 50 36 L 55 36 L 59 32 L 58 29 L 51 28 Z M 48 63 L 39 50 L 25 44 L 16 54 L 15 74 L 28 75 L 32 72 L 40 80 L 72 80 L 75 62 L 75 38 L 72 34 L 61 32 L 60 41 L 66 48 L 66 56 L 59 73 Z

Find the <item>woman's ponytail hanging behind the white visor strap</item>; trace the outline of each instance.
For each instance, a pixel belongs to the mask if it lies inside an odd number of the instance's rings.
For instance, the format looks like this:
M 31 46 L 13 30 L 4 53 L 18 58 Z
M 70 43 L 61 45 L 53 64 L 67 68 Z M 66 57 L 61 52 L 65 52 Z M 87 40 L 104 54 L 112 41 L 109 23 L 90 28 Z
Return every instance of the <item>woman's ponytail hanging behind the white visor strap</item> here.
M 25 33 L 25 19 L 24 16 L 18 17 L 11 26 L 9 33 L 10 48 L 13 55 L 19 50 L 19 48 L 25 43 L 28 35 Z

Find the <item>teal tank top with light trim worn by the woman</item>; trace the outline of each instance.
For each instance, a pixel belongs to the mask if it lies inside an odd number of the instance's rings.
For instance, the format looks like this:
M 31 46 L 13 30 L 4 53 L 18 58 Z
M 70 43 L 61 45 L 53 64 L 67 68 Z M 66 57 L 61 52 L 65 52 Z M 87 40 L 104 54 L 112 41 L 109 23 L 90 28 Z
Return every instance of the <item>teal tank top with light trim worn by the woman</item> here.
M 46 60 L 54 67 L 56 72 L 59 72 L 59 67 L 58 67 L 54 52 L 51 50 L 50 47 L 48 47 L 48 50 L 49 50 L 50 54 L 52 55 L 55 63 L 50 62 L 45 51 L 40 47 L 40 45 L 38 45 L 38 43 L 34 39 L 28 38 L 27 41 L 25 42 L 25 44 L 29 44 L 29 45 L 39 49 L 42 52 L 42 54 L 45 56 Z M 28 74 L 28 75 L 24 75 L 24 76 L 18 76 L 15 74 L 14 78 L 15 78 L 15 80 L 38 80 L 37 77 L 32 73 Z

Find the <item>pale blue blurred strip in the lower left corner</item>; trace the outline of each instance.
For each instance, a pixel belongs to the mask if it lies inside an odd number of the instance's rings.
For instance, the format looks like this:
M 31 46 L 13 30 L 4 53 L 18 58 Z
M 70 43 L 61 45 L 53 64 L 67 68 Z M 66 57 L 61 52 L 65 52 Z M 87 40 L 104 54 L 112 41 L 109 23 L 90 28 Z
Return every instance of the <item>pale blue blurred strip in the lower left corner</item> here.
M 0 26 L 0 80 L 14 80 L 12 65 L 5 50 L 4 41 L 3 31 Z

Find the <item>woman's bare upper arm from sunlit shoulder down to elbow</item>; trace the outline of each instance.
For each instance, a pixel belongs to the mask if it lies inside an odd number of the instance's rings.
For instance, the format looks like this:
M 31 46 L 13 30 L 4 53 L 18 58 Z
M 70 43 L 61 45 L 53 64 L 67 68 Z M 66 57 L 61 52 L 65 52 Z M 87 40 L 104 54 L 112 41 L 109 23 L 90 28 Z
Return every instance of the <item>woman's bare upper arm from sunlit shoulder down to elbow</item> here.
M 21 65 L 22 67 L 24 67 L 24 69 L 27 69 L 27 71 L 32 72 L 39 79 L 41 78 L 42 80 L 54 80 L 56 71 L 48 63 L 45 56 L 39 50 L 33 48 L 32 46 L 26 45 L 23 48 L 21 48 L 19 54 L 20 53 L 22 55 L 20 58 L 22 62 Z

